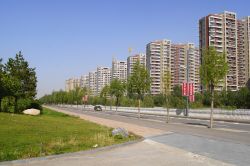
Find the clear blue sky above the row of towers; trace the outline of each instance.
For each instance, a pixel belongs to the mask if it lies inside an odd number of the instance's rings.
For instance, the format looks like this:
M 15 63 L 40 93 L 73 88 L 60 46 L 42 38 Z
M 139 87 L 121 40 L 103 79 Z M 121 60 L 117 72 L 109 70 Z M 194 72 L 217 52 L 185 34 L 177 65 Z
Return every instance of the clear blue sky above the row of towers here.
M 249 0 L 0 0 L 0 58 L 22 51 L 36 68 L 37 97 L 112 57 L 145 53 L 159 39 L 198 46 L 198 20 L 210 13 L 250 15 Z

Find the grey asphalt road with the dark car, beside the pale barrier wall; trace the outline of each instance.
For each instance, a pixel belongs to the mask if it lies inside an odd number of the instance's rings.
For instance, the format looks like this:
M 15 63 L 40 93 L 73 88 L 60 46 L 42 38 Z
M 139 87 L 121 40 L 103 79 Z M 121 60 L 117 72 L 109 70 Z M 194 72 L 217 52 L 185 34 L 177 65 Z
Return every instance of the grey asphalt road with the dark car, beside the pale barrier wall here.
M 210 129 L 208 128 L 208 120 L 171 118 L 170 123 L 167 124 L 165 122 L 166 117 L 163 116 L 142 114 L 141 119 L 138 119 L 136 113 L 124 113 L 113 111 L 97 112 L 93 110 L 84 111 L 80 108 L 63 109 L 100 118 L 106 118 L 125 123 L 160 129 L 166 132 L 172 131 L 180 134 L 202 136 L 205 138 L 230 141 L 233 143 L 240 143 L 250 146 L 250 124 L 217 121 L 214 122 L 214 128 Z

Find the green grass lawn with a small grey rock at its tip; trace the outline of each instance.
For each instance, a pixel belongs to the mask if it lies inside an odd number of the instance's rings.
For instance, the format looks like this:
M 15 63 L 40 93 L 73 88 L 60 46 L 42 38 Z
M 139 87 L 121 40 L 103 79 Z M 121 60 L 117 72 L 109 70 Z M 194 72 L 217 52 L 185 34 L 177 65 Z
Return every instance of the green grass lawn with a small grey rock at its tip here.
M 0 161 L 75 152 L 135 140 L 118 138 L 111 128 L 44 108 L 29 116 L 0 113 Z

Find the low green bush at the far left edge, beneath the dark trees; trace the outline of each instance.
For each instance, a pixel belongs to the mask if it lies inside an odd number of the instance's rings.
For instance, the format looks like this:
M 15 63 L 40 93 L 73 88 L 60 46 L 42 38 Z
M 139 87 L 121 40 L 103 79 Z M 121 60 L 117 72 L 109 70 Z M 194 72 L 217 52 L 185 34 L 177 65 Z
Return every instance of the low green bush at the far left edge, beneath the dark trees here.
M 13 96 L 7 96 L 1 100 L 1 110 L 3 112 L 14 113 L 15 112 L 15 98 Z

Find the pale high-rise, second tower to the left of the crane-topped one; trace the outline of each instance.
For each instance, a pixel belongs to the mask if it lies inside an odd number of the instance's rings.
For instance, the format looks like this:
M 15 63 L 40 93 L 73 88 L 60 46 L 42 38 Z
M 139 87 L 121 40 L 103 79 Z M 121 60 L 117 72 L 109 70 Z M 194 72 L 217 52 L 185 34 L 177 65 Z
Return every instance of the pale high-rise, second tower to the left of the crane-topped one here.
M 105 85 L 111 80 L 111 69 L 109 67 L 97 67 L 96 71 L 96 94 L 99 95 Z

